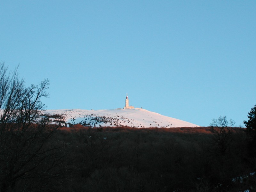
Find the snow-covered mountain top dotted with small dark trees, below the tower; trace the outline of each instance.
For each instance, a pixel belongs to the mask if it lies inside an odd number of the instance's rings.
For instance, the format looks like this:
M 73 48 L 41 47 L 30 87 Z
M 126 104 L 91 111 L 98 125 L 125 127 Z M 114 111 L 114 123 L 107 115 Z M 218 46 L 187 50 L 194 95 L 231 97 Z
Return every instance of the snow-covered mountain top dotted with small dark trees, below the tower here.
M 163 116 L 142 108 L 134 109 L 57 109 L 46 110 L 48 114 L 63 114 L 68 124 L 82 124 L 85 126 L 129 126 L 147 127 L 198 127 L 186 121 Z

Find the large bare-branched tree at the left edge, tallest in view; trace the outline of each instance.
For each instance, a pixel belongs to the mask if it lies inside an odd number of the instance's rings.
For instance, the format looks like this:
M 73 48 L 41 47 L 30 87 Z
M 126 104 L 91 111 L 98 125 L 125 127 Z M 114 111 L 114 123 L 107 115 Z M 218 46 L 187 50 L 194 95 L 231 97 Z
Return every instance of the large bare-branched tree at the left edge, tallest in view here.
M 61 174 L 56 167 L 66 144 L 52 138 L 60 124 L 43 115 L 41 98 L 48 96 L 49 80 L 25 87 L 17 68 L 7 71 L 0 63 L 0 191 L 27 191 L 33 185 L 35 190 L 42 184 L 37 181 L 46 186 Z

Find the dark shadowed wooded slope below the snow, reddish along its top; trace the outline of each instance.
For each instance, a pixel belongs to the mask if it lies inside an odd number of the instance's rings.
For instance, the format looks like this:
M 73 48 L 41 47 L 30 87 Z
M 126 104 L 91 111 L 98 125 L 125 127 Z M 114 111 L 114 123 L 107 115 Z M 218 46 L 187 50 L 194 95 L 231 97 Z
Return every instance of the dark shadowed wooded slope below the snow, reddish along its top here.
M 255 189 L 255 175 L 249 174 L 255 157 L 247 153 L 244 129 L 233 128 L 228 140 L 223 151 L 210 127 L 62 127 L 37 153 L 38 166 L 25 167 L 24 177 L 7 191 Z

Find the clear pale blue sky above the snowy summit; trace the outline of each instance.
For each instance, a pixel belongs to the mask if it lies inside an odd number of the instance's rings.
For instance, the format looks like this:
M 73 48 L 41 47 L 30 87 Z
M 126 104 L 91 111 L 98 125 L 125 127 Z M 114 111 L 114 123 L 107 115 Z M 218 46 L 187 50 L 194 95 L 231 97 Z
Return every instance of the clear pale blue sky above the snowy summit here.
M 256 1 L 0 1 L 0 61 L 50 79 L 47 109 L 130 105 L 244 126 L 256 104 Z

